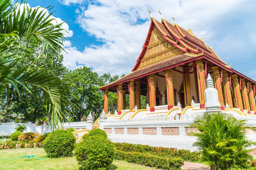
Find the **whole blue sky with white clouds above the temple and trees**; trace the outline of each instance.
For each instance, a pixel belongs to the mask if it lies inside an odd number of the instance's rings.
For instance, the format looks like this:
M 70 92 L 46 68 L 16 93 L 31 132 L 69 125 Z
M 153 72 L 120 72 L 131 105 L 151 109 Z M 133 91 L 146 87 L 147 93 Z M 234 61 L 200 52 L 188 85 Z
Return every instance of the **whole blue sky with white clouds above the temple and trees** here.
M 141 53 L 151 10 L 212 45 L 233 69 L 256 80 L 256 2 L 253 0 L 27 0 L 31 7 L 55 6 L 53 16 L 68 21 L 64 66 L 92 67 L 98 74 L 128 74 Z

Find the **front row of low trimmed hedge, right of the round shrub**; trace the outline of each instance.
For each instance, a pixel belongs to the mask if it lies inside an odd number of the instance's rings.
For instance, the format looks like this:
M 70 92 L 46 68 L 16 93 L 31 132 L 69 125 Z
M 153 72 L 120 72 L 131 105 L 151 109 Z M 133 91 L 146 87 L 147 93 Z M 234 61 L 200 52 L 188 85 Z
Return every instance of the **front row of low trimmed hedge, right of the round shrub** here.
M 163 158 L 141 152 L 124 152 L 120 150 L 115 151 L 115 159 L 160 169 L 180 169 L 181 165 L 184 164 L 184 160 L 181 158 Z

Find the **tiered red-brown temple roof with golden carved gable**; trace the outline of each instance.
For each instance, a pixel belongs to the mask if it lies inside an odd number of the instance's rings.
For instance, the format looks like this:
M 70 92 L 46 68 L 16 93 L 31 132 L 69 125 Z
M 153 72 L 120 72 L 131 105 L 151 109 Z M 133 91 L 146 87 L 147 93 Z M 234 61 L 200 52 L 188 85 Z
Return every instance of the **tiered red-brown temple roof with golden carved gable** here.
M 156 44 L 159 44 L 157 48 L 155 47 Z M 153 52 L 153 48 L 154 52 L 157 53 Z M 109 88 L 109 91 L 117 92 L 117 85 L 120 83 L 193 62 L 199 58 L 205 59 L 206 69 L 208 69 L 208 66 L 210 69 L 211 66 L 216 65 L 220 69 L 228 71 L 228 73 L 238 74 L 240 78 L 245 78 L 247 81 L 256 84 L 254 80 L 227 66 L 213 49 L 205 44 L 204 40 L 200 40 L 193 35 L 191 29 L 187 31 L 178 24 L 171 24 L 163 18 L 162 23 L 151 18 L 142 52 L 131 73 L 100 87 L 100 90 Z

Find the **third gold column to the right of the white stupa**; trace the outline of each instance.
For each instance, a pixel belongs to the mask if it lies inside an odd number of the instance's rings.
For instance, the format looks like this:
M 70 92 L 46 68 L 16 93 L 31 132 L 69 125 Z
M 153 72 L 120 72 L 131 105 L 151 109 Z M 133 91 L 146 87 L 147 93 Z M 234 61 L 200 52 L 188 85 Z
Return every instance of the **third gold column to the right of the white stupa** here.
M 239 83 L 238 83 L 237 74 L 233 74 L 232 79 L 233 79 L 235 106 L 236 106 L 236 108 L 243 111 L 243 103 L 242 103 L 242 97 L 241 97 L 241 92 L 240 92 L 240 87 L 239 87 Z

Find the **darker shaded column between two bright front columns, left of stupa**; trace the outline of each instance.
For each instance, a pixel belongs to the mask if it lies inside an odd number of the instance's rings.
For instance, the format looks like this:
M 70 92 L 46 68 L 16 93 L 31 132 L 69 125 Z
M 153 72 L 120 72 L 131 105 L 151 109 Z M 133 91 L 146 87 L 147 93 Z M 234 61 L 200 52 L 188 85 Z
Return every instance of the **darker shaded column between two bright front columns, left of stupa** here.
M 191 85 L 188 72 L 188 65 L 185 65 L 183 68 L 183 83 L 184 83 L 184 99 L 185 107 L 191 105 L 192 94 L 191 94 Z

